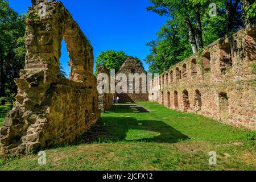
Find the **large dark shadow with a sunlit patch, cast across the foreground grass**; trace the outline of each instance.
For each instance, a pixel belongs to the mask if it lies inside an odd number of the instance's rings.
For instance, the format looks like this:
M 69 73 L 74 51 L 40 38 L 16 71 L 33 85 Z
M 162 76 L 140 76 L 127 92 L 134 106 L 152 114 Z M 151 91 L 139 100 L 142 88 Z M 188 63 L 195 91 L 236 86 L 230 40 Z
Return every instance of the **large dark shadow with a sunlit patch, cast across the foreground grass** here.
M 128 132 L 131 131 L 127 138 Z M 151 134 L 156 134 L 156 136 Z M 130 138 L 130 139 L 129 139 Z M 189 137 L 162 121 L 138 121 L 135 118 L 102 117 L 73 144 L 97 142 L 176 143 Z

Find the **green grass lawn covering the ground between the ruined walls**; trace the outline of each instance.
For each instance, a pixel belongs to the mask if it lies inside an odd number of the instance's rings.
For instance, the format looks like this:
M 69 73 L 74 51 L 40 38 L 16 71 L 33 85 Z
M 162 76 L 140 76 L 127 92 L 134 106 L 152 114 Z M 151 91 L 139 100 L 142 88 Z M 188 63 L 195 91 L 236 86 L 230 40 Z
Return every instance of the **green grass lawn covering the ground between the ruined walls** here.
M 71 146 L 0 159 L 3 170 L 256 170 L 255 132 L 152 103 L 114 106 Z M 210 151 L 217 165 L 209 164 Z

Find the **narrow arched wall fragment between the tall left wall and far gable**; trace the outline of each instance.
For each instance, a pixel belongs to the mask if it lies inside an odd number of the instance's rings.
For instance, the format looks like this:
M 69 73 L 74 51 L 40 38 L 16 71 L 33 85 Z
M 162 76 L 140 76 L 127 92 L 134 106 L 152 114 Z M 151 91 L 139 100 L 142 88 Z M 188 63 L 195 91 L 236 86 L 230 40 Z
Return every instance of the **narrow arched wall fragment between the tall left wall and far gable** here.
M 115 97 L 115 94 L 110 93 L 110 73 L 108 69 L 104 65 L 100 65 L 97 67 L 97 73 L 100 75 L 100 73 L 104 73 L 108 77 L 108 81 L 104 79 L 98 79 L 98 86 L 101 81 L 106 81 L 108 83 L 108 93 L 99 93 L 98 94 L 98 106 L 102 113 L 104 113 L 106 110 L 109 110 L 113 106 L 112 97 Z

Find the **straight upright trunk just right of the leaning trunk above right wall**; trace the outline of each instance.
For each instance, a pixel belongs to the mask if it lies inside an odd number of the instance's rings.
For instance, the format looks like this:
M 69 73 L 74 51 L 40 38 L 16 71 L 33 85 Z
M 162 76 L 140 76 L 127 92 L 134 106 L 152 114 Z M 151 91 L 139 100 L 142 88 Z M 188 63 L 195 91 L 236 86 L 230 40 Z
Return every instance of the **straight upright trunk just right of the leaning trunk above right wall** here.
M 196 46 L 197 49 L 203 48 L 202 23 L 200 15 L 200 7 L 196 7 Z

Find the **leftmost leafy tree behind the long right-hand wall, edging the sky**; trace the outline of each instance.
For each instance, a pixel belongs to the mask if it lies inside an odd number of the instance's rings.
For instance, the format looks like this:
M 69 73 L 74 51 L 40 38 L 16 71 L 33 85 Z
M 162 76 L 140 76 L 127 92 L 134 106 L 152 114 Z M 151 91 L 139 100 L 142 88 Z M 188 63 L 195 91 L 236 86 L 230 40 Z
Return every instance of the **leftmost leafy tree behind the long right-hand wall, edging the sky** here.
M 181 32 L 184 31 L 177 26 L 175 20 L 169 20 L 156 34 L 158 39 L 146 44 L 146 46 L 151 47 L 150 55 L 144 59 L 149 65 L 149 72 L 162 73 L 167 71 L 171 65 L 192 54 L 187 37 L 180 36 Z

